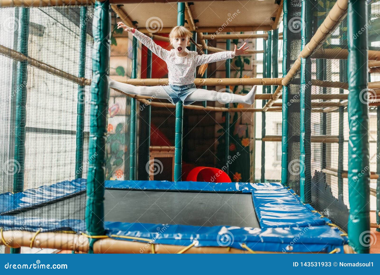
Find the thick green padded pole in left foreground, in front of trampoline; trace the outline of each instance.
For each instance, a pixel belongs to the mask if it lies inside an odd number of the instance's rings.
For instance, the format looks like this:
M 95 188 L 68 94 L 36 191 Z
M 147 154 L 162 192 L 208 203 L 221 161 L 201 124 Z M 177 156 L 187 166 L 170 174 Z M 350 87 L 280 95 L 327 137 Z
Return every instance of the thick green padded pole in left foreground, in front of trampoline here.
M 103 200 L 106 176 L 110 33 L 109 1 L 96 1 L 92 22 L 92 82 L 86 206 L 86 230 L 89 235 L 104 235 L 105 233 Z M 89 253 L 93 253 L 94 242 L 95 239 L 90 240 Z

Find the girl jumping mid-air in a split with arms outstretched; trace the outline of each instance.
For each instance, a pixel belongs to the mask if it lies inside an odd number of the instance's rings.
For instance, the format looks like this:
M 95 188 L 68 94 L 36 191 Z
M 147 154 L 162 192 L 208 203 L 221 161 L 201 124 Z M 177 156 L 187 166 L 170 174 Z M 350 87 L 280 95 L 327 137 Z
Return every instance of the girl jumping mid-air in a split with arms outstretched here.
M 198 73 L 203 75 L 204 71 L 206 71 L 207 63 L 226 60 L 245 54 L 245 50 L 249 48 L 244 48 L 247 43 L 244 43 L 239 49 L 237 49 L 235 45 L 234 51 L 198 55 L 196 51 L 188 51 L 186 49 L 189 41 L 192 40 L 192 33 L 183 26 L 177 26 L 174 27 L 169 34 L 170 44 L 174 49 L 168 51 L 155 44 L 150 37 L 134 28 L 126 26 L 123 22 L 119 22 L 117 25 L 117 28 L 123 28 L 125 31 L 133 33 L 142 44 L 166 62 L 169 71 L 169 85 L 152 87 L 134 86 L 110 79 L 109 85 L 111 88 L 131 95 L 167 99 L 173 104 L 182 101 L 184 105 L 192 104 L 195 101 L 205 100 L 219 101 L 221 103 L 246 104 L 253 104 L 255 101 L 256 86 L 253 86 L 252 90 L 250 90 L 247 95 L 235 95 L 233 93 L 221 93 L 205 89 L 197 89 L 194 84 L 196 66 L 202 65 L 199 67 Z M 196 46 L 198 47 L 198 45 Z

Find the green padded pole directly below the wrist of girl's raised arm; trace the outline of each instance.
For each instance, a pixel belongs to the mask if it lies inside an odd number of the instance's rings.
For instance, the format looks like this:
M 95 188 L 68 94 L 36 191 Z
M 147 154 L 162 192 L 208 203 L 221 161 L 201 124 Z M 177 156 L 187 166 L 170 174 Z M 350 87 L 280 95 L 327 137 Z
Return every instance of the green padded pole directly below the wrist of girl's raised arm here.
M 132 79 L 137 78 L 137 38 L 132 40 Z M 136 98 L 131 98 L 131 124 L 129 136 L 129 179 L 136 180 Z

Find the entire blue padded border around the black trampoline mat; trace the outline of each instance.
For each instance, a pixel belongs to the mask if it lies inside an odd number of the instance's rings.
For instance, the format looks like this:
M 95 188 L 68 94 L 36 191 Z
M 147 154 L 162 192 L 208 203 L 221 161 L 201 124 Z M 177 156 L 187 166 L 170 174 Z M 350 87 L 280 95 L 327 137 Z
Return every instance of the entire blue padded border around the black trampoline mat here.
M 240 228 L 237 226 L 190 226 L 105 222 L 106 234 L 152 239 L 154 243 L 168 245 L 220 246 L 223 236 L 233 238 L 229 247 L 241 248 L 245 243 L 258 251 L 283 252 L 329 252 L 347 244 L 338 229 L 326 223 L 331 221 L 312 213 L 311 205 L 300 202 L 293 190 L 287 190 L 281 183 L 213 183 L 213 182 L 168 182 L 168 181 L 106 181 L 106 188 L 135 190 L 184 190 L 184 191 L 223 191 L 252 193 L 261 228 Z M 85 179 L 64 181 L 50 186 L 42 186 L 17 194 L 0 195 L 0 205 L 13 202 L 4 211 L 21 209 L 44 202 L 62 199 L 84 191 Z M 0 226 L 5 230 L 23 227 L 27 231 L 84 231 L 84 220 L 54 220 L 1 216 Z M 165 228 L 165 231 L 163 231 Z M 121 237 L 114 239 L 125 240 Z M 287 247 L 291 245 L 291 251 Z

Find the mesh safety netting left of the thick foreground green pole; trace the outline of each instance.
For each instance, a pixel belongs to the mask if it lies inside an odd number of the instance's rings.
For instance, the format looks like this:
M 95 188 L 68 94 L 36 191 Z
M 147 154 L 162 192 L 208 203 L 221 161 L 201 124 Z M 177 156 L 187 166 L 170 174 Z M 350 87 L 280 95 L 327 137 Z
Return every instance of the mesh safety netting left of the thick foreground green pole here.
M 80 7 L 1 8 L 0 46 L 78 77 L 80 12 Z M 87 7 L 83 57 L 86 66 L 82 73 L 88 79 L 92 76 L 92 13 L 92 7 Z M 24 201 L 38 203 L 42 199 L 45 205 L 49 198 L 73 192 L 67 183 L 75 180 L 77 174 L 87 178 L 90 86 L 78 87 L 69 79 L 3 54 L 0 67 L 0 193 L 25 190 L 33 193 L 35 188 L 60 185 L 59 189 L 34 193 Z M 78 97 L 83 101 L 84 112 L 80 129 L 77 128 Z M 78 130 L 83 131 L 81 165 L 76 165 Z M 77 183 L 79 187 L 79 181 Z M 8 199 L 0 199 L 0 223 L 2 227 L 22 231 L 32 230 L 31 226 L 46 226 L 47 221 L 53 219 L 84 220 L 86 194 L 83 190 L 79 188 L 76 196 L 61 205 L 40 204 L 40 207 L 10 212 L 18 199 L 8 193 Z M 9 216 L 17 219 L 10 220 Z M 52 229 L 54 226 L 59 225 L 53 225 Z

